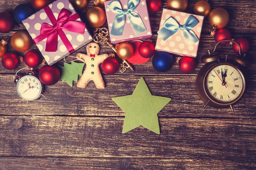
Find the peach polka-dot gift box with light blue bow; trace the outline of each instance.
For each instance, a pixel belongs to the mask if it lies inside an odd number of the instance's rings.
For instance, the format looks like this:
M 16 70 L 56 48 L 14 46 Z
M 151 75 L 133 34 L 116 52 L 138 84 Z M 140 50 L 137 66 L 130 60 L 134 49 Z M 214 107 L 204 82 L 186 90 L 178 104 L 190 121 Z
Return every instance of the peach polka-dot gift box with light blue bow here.
M 203 21 L 203 16 L 163 9 L 155 49 L 196 57 Z

